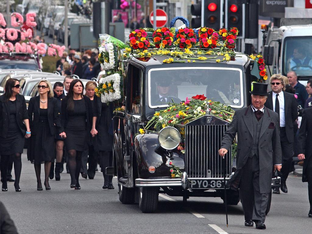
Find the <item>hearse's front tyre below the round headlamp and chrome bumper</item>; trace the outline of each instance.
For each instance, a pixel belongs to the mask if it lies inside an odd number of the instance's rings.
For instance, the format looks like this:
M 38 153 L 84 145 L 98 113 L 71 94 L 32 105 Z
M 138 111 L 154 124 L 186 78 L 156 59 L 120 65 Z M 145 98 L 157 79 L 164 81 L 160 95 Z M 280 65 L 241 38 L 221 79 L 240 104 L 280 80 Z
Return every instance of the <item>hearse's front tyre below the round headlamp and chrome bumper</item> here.
M 139 207 L 143 213 L 153 213 L 157 209 L 159 188 L 139 188 Z

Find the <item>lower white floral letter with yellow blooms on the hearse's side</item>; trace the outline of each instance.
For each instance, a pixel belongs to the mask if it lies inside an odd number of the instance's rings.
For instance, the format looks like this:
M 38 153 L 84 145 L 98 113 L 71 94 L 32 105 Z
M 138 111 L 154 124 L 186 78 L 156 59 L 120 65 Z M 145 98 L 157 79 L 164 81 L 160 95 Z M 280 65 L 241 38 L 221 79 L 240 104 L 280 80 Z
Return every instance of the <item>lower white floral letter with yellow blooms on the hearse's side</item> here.
M 113 85 L 112 85 L 113 89 L 111 89 L 113 91 L 103 92 L 101 94 L 101 101 L 103 103 L 116 101 L 116 100 L 119 100 L 121 98 L 119 73 L 115 73 L 113 75 L 101 78 L 99 83 L 100 83 L 100 85 L 103 85 L 106 83 L 107 84 L 113 83 Z

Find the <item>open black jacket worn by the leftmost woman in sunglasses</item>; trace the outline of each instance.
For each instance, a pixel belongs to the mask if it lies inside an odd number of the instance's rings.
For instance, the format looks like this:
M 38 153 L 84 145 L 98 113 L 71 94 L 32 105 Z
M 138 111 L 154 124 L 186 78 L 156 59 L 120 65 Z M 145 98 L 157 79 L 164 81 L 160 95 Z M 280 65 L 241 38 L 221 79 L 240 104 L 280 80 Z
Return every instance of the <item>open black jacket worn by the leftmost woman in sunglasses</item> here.
M 7 136 L 9 130 L 10 113 L 8 103 L 5 101 L 4 95 L 0 96 L 0 135 Z M 28 119 L 26 101 L 23 95 L 16 95 L 16 120 L 19 129 L 23 135 L 26 134 L 26 127 L 23 123 L 24 119 Z

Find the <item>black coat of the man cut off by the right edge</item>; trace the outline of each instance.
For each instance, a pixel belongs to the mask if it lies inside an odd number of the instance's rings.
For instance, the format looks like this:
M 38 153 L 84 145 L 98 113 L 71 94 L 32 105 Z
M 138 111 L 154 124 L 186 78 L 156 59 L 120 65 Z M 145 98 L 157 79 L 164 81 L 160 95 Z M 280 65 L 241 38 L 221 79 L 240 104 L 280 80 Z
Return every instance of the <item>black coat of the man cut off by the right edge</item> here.
M 312 155 L 312 108 L 305 109 L 299 129 L 298 154 L 305 154 L 303 162 L 302 182 L 308 182 L 307 166 L 312 163 L 309 158 Z

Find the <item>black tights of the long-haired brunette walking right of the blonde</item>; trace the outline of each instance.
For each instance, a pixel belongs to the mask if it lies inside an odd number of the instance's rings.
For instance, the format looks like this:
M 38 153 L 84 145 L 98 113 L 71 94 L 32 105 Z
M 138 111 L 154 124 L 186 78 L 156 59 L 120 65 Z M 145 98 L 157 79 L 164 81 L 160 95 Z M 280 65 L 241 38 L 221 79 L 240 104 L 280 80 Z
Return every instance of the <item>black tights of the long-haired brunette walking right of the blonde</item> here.
M 71 184 L 75 184 L 79 187 L 79 174 L 81 168 L 81 154 L 82 151 L 75 149 L 68 150 L 68 168 L 71 174 Z

